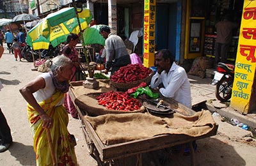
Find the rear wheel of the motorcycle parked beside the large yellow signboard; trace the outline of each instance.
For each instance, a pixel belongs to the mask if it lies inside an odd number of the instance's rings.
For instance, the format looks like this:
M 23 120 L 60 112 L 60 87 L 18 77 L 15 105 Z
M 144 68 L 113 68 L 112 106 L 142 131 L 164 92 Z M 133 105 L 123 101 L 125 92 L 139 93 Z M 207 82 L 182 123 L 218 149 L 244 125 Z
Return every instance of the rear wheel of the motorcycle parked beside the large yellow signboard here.
M 221 102 L 227 102 L 231 98 L 233 79 L 224 77 L 216 84 L 215 96 Z

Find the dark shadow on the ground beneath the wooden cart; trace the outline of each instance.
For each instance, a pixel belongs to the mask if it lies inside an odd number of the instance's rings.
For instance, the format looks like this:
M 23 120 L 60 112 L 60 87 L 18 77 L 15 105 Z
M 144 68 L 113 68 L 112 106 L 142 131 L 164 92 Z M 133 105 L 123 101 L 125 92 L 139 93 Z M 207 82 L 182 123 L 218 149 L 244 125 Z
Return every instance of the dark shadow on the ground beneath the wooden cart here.
M 236 153 L 234 147 L 229 146 L 221 140 L 212 137 L 196 140 L 195 158 L 196 166 L 233 166 L 246 165 L 246 162 Z M 191 165 L 191 156 L 182 155 L 173 150 L 174 147 L 143 153 L 143 166 L 170 166 L 170 165 Z M 114 162 L 123 165 L 136 165 L 137 158 L 140 156 L 130 156 L 125 159 L 115 160 Z

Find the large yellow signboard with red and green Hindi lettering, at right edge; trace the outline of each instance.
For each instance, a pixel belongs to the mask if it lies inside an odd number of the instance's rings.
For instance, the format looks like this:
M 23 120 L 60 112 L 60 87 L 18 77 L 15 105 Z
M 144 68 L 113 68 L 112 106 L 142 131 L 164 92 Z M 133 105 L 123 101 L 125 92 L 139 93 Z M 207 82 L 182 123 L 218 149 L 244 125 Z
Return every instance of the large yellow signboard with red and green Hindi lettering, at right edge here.
M 256 1 L 244 0 L 231 107 L 247 114 L 255 77 Z M 255 102 L 255 101 L 254 101 Z

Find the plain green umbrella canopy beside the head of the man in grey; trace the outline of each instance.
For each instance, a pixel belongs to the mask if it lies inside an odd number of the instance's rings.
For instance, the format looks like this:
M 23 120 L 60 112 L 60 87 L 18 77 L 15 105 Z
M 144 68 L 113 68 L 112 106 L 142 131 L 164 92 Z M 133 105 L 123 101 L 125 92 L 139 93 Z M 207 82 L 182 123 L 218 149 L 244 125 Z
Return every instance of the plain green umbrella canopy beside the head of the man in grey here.
M 84 45 L 100 44 L 105 45 L 105 39 L 99 33 L 100 27 L 103 25 L 94 25 L 84 30 Z

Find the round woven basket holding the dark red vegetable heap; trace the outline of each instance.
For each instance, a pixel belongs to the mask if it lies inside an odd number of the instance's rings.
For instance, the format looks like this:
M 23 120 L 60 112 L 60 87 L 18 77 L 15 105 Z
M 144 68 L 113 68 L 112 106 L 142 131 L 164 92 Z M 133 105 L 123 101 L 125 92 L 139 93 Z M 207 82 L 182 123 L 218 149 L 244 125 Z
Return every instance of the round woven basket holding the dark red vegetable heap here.
M 146 82 L 147 86 L 150 84 L 151 79 L 154 75 L 154 72 L 152 71 L 152 73 L 150 75 L 148 75 L 148 77 L 145 77 L 144 79 L 141 80 L 136 80 L 133 82 L 113 82 L 112 80 L 110 80 L 110 85 L 115 87 L 116 89 L 118 89 L 118 91 L 127 91 L 128 89 L 132 88 L 132 87 L 136 87 L 139 86 L 141 82 Z

